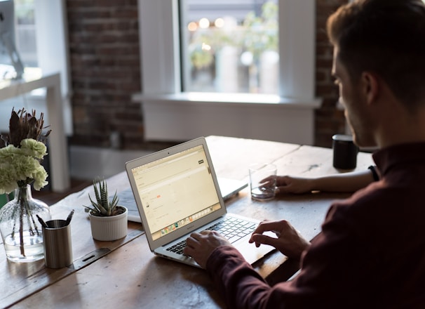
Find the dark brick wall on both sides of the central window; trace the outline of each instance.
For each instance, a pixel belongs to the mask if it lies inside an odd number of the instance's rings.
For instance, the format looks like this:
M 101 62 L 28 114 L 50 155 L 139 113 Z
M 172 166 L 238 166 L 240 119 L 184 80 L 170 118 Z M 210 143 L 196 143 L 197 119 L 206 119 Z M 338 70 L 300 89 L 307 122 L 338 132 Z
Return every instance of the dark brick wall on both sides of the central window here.
M 344 131 L 344 115 L 335 108 L 332 48 L 325 20 L 346 0 L 316 0 L 316 141 L 330 147 L 331 136 Z M 74 136 L 72 145 L 109 147 L 118 132 L 124 149 L 155 149 L 143 142 L 143 116 L 131 94 L 140 91 L 137 0 L 67 0 Z

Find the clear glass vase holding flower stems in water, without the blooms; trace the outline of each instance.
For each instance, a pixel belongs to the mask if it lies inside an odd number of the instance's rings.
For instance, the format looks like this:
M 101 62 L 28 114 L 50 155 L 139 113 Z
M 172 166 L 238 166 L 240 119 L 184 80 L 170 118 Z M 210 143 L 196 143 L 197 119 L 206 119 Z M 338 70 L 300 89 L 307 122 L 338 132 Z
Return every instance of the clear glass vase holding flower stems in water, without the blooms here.
M 14 199 L 0 209 L 0 232 L 9 261 L 32 262 L 44 257 L 41 223 L 51 219 L 48 205 L 32 198 L 31 186 L 15 189 Z

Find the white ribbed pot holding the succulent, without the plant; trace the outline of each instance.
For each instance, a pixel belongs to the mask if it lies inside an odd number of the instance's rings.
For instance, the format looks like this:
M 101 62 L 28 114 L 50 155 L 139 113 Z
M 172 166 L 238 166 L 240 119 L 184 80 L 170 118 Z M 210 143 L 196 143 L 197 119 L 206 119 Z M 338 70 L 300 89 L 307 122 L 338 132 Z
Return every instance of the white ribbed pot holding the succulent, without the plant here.
M 126 209 L 126 207 L 121 206 Z M 112 241 L 127 236 L 128 209 L 118 216 L 99 217 L 88 214 L 90 218 L 91 235 L 94 239 Z

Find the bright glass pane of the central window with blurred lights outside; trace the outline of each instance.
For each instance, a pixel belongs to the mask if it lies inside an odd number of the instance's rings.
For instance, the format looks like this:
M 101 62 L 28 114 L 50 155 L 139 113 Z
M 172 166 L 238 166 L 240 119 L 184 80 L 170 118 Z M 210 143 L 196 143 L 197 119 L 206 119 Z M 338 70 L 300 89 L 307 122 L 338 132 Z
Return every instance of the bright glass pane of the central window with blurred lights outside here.
M 278 93 L 277 0 L 182 0 L 184 91 Z

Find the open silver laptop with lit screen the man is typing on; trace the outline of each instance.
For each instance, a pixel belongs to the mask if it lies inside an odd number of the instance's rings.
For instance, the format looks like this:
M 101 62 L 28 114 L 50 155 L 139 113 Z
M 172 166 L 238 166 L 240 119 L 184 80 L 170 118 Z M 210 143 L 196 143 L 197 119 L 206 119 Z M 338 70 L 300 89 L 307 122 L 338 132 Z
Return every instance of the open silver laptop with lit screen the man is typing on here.
M 218 230 L 251 264 L 274 250 L 248 243 L 259 221 L 227 213 L 205 138 L 126 162 L 126 172 L 149 249 L 157 256 L 200 267 L 182 249 L 191 232 L 202 230 Z M 224 221 L 248 230 L 223 230 Z M 232 235 L 235 229 L 238 236 Z

